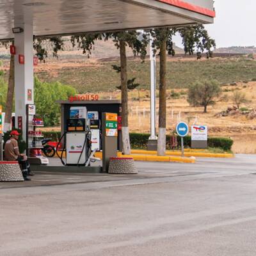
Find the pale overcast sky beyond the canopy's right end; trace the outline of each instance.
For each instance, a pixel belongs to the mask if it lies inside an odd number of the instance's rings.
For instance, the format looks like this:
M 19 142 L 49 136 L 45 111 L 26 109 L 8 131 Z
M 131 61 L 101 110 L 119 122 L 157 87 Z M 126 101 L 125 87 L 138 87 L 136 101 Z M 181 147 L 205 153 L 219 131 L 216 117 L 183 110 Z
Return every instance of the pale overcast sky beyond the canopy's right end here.
M 205 25 L 217 48 L 256 46 L 256 0 L 215 0 L 214 24 Z M 175 38 L 181 46 L 180 38 Z

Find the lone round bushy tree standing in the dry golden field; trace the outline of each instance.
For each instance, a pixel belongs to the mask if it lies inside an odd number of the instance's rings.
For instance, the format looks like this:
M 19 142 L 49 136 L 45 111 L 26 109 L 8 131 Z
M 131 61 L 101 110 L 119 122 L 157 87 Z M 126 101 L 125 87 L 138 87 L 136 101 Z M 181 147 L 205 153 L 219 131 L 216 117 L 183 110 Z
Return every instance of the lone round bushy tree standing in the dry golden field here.
M 207 106 L 214 104 L 214 98 L 221 93 L 220 84 L 216 80 L 197 81 L 188 88 L 188 102 L 191 106 L 203 106 L 207 113 Z

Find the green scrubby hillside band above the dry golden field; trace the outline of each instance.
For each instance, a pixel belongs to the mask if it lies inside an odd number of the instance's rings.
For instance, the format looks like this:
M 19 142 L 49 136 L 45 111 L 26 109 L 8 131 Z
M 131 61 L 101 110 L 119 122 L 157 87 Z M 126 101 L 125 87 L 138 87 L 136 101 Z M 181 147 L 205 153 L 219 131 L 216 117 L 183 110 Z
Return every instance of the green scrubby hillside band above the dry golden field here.
M 158 61 L 158 60 L 157 60 Z M 116 90 L 120 77 L 111 67 L 119 65 L 119 61 L 99 60 L 63 60 L 40 64 L 35 74 L 44 81 L 60 81 L 71 84 L 81 93 Z M 157 63 L 157 81 L 158 81 Z M 147 59 L 131 58 L 128 61 L 129 77 L 136 77 L 140 88 L 150 86 L 150 62 Z M 211 60 L 195 60 L 168 58 L 167 81 L 168 88 L 188 88 L 189 84 L 200 79 L 216 79 L 220 84 L 234 81 L 251 81 L 256 79 L 256 61 L 244 57 L 213 58 Z

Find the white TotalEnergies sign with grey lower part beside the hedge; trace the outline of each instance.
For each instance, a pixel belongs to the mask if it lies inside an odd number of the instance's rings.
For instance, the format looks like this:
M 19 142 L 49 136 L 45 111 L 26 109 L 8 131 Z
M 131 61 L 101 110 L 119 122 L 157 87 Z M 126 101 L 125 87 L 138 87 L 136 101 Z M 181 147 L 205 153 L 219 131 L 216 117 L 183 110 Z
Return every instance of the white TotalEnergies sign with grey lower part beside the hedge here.
M 207 125 L 192 125 L 191 147 L 207 148 L 208 129 Z

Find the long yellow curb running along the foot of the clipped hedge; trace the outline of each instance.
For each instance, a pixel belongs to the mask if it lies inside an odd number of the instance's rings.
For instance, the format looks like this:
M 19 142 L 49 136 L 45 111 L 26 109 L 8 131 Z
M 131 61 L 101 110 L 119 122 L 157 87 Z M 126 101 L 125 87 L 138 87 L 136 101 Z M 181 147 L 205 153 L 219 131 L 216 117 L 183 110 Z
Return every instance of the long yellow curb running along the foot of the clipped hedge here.
M 132 154 L 147 154 L 147 155 L 156 155 L 157 151 L 148 151 L 148 150 L 139 150 L 139 149 L 132 149 Z M 180 151 L 166 151 L 167 156 L 181 156 Z M 234 157 L 233 154 L 224 154 L 224 153 L 206 153 L 206 152 L 184 152 L 184 156 L 186 157 L 223 157 L 223 158 L 232 158 Z

